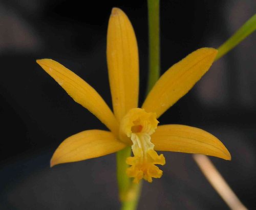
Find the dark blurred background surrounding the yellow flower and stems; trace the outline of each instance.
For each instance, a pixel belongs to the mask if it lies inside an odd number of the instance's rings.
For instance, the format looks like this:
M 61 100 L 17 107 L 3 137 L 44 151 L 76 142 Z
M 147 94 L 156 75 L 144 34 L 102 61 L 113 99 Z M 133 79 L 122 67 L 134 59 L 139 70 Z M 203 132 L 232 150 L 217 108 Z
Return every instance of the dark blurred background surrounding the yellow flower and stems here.
M 118 209 L 115 154 L 49 167 L 67 137 L 106 129 L 36 63 L 52 58 L 111 106 L 106 30 L 113 7 L 129 16 L 147 79 L 146 1 L 0 1 L 0 209 Z M 161 1 L 162 73 L 197 48 L 219 47 L 255 12 L 254 1 Z M 217 136 L 232 161 L 210 158 L 248 207 L 256 195 L 255 34 L 212 65 L 160 119 Z M 190 154 L 164 152 L 161 179 L 144 183 L 139 209 L 227 209 Z

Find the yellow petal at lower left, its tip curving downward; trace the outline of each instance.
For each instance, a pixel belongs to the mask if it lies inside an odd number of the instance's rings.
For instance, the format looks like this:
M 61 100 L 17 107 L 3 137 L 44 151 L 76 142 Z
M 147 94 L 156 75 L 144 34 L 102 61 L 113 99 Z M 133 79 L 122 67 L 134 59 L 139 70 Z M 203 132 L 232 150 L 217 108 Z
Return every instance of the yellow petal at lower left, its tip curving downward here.
M 123 149 L 126 145 L 104 130 L 86 130 L 64 140 L 54 152 L 51 167 L 97 158 Z

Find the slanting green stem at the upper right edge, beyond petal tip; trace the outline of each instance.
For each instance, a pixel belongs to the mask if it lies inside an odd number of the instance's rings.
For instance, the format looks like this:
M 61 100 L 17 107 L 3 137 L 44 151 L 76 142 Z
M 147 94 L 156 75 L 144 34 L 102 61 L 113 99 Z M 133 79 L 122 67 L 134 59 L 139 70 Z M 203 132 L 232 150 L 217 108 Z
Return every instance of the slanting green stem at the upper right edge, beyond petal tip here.
M 254 14 L 249 20 L 247 20 L 242 27 L 233 34 L 226 42 L 224 42 L 219 48 L 218 55 L 215 59 L 217 61 L 224 56 L 229 50 L 238 45 L 247 36 L 249 36 L 256 29 L 256 14 Z

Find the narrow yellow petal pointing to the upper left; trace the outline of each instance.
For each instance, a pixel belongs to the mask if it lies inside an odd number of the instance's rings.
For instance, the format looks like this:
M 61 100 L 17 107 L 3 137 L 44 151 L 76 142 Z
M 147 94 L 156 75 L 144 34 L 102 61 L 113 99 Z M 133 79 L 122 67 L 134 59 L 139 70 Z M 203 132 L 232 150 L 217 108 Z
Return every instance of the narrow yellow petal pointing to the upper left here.
M 74 72 L 51 59 L 40 59 L 36 62 L 66 90 L 66 92 L 84 108 L 94 114 L 113 133 L 118 134 L 118 123 L 105 101 L 87 82 Z

